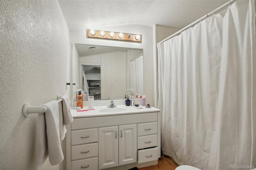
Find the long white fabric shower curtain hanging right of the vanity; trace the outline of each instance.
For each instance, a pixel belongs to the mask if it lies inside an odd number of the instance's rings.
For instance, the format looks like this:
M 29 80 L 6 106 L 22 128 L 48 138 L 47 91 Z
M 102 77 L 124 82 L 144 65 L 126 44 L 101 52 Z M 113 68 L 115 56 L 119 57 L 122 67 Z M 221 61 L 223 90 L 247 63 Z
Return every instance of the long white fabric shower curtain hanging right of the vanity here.
M 180 165 L 256 168 L 254 3 L 236 1 L 158 44 L 162 149 Z

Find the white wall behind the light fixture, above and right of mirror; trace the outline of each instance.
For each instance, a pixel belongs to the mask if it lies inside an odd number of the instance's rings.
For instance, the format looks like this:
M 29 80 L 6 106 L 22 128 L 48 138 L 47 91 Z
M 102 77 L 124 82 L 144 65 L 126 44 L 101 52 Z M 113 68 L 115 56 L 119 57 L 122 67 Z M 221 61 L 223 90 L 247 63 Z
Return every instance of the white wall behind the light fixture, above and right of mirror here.
M 115 40 L 103 40 L 86 38 L 86 30 L 70 31 L 70 43 L 82 43 L 92 45 L 107 45 L 117 47 L 130 47 L 143 49 L 144 57 L 144 95 L 147 103 L 154 106 L 154 71 L 153 71 L 153 27 L 141 25 L 119 26 L 113 28 L 88 28 L 142 35 L 142 43 L 122 42 Z

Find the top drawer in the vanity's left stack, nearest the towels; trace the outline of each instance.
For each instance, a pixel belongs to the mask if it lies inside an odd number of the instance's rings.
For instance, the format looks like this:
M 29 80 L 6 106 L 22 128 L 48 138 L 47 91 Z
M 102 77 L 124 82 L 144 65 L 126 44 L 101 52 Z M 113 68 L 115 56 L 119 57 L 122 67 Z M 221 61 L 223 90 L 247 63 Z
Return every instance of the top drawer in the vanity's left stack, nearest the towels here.
M 98 128 L 72 130 L 71 145 L 98 142 Z

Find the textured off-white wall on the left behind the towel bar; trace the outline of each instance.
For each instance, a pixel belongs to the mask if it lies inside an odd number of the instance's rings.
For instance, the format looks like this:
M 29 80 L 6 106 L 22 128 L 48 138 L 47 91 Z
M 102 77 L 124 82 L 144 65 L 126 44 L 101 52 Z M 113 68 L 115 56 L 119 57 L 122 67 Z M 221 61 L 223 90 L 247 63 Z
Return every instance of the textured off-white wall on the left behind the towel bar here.
M 39 106 L 66 93 L 69 32 L 56 0 L 0 0 L 0 169 L 57 170 L 63 164 L 34 165 Z M 65 146 L 63 146 L 65 149 Z

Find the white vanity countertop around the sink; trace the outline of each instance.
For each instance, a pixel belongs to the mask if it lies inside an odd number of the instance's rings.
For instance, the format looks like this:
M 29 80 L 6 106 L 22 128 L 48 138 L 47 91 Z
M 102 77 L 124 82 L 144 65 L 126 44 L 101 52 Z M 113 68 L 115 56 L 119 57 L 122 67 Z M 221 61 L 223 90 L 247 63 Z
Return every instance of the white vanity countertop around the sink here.
M 95 106 L 94 110 L 88 110 L 88 106 L 85 106 L 83 109 L 81 109 L 79 112 L 75 109 L 70 109 L 73 118 L 80 118 L 80 117 L 97 117 L 97 116 L 109 116 L 109 115 L 125 115 L 125 114 L 135 114 L 135 113 L 145 113 L 145 112 L 159 112 L 160 109 L 151 107 L 146 108 L 145 106 L 126 106 L 126 105 L 116 105 L 116 108 L 127 108 L 125 111 L 118 111 L 115 113 L 104 113 L 101 110 L 102 109 L 113 109 L 114 108 L 107 108 L 107 106 Z M 138 109 L 141 108 L 141 109 Z M 88 110 L 88 111 L 84 111 Z

